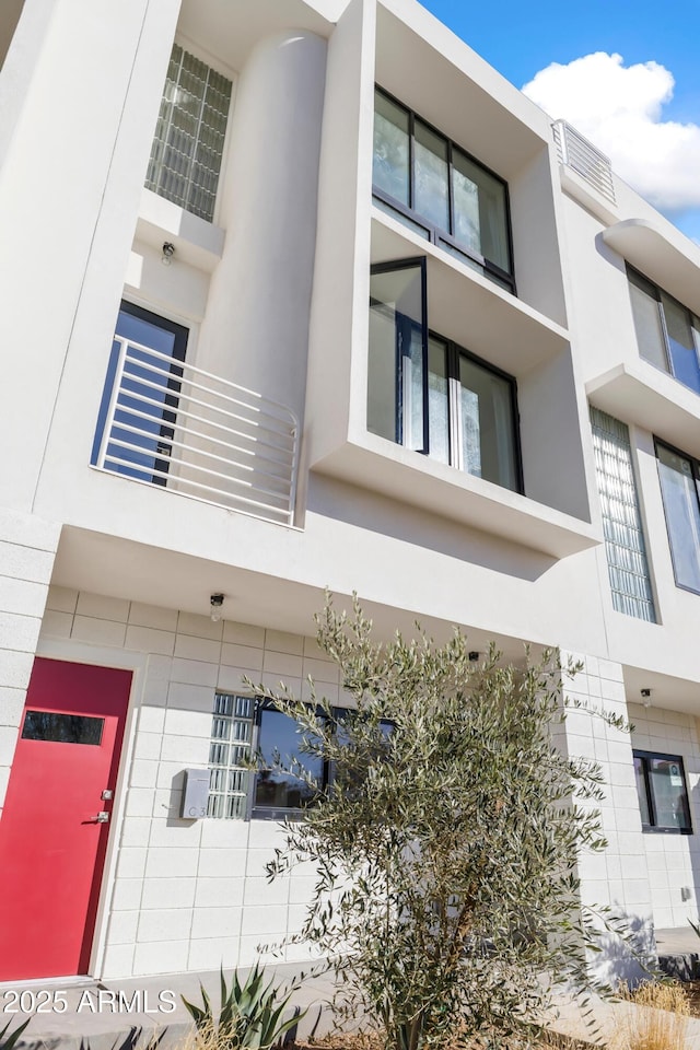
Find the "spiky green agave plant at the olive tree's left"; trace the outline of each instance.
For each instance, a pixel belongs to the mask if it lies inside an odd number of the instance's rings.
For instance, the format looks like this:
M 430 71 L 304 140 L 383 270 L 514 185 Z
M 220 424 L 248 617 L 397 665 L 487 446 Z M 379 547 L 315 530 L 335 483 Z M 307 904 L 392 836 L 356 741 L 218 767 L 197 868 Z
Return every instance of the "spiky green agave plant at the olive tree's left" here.
M 285 991 L 275 988 L 272 980 L 265 981 L 265 970 L 257 965 L 244 984 L 234 971 L 231 988 L 226 987 L 223 968 L 221 969 L 221 1012 L 218 1024 L 203 984 L 199 988 L 202 1006 L 189 1003 L 184 995 L 183 1003 L 191 1014 L 198 1032 L 208 1036 L 212 1031 L 217 1032 L 217 1045 L 221 1050 L 270 1050 L 281 1042 L 282 1036 L 304 1016 L 296 1010 L 292 1017 L 284 1017 L 295 987 L 292 985 Z

